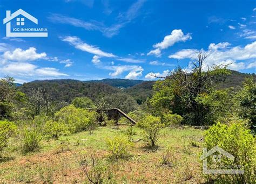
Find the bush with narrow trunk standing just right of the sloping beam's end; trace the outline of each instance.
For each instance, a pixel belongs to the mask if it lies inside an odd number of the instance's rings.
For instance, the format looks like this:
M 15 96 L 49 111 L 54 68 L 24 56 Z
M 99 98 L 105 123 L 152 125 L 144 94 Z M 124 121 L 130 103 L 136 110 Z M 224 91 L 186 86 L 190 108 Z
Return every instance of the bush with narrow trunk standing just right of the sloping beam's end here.
M 161 123 L 159 117 L 152 115 L 146 116 L 138 126 L 144 130 L 145 138 L 149 144 L 154 147 L 161 135 L 161 130 L 164 128 L 164 124 Z

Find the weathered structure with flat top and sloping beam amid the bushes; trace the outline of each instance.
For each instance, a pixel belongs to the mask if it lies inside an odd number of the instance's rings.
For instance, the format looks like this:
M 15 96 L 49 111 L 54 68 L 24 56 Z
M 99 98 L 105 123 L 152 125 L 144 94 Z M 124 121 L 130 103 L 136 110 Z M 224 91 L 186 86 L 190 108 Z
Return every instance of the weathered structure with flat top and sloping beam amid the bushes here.
M 127 116 L 122 110 L 117 109 L 117 108 L 113 108 L 113 109 L 87 109 L 87 110 L 90 110 L 90 111 L 93 110 L 93 111 L 97 111 L 97 112 L 100 112 L 100 111 L 106 112 L 107 116 L 110 119 L 114 119 L 116 121 L 116 123 L 118 122 L 119 115 L 120 115 L 120 116 L 123 116 L 126 119 L 128 119 L 131 122 L 131 124 L 133 124 L 133 125 L 136 124 L 136 121 L 134 121 L 134 119 Z

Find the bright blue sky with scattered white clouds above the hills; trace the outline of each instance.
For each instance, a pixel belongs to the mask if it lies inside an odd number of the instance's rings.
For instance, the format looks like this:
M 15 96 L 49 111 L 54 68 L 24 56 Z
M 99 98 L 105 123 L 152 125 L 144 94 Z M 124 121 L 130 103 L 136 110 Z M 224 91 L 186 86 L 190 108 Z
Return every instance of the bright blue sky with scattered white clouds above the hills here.
M 255 73 L 256 1 L 1 0 L 0 19 L 19 9 L 38 19 L 23 27 L 44 27 L 48 37 L 6 37 L 0 24 L 0 77 L 17 83 L 156 80 L 177 65 L 189 72 L 198 51 L 205 68 Z

